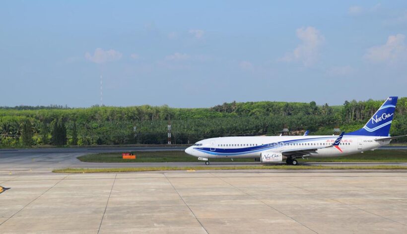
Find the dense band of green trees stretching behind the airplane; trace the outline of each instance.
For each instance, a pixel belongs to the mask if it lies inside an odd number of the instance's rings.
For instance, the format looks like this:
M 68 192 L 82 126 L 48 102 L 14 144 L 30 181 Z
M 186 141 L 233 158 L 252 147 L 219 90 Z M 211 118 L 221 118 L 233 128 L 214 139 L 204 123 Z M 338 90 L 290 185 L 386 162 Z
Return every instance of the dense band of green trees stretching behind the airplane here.
M 341 106 L 288 102 L 224 103 L 211 108 L 99 107 L 0 108 L 0 146 L 165 144 L 172 125 L 173 144 L 192 144 L 218 136 L 332 134 L 356 130 L 383 100 L 345 101 Z M 136 127 L 136 131 L 134 131 Z M 407 132 L 407 98 L 400 98 L 391 134 Z M 405 142 L 407 139 L 399 139 Z

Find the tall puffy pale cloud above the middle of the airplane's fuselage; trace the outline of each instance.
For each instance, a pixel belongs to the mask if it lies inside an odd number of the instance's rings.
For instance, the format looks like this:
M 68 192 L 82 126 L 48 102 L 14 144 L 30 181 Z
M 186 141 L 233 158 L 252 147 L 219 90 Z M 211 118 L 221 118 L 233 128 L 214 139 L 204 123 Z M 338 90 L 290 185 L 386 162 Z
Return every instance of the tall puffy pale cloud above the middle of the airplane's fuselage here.
M 302 43 L 281 60 L 287 62 L 301 61 L 305 66 L 314 64 L 319 58 L 319 51 L 325 41 L 324 36 L 314 27 L 299 28 L 296 34 Z

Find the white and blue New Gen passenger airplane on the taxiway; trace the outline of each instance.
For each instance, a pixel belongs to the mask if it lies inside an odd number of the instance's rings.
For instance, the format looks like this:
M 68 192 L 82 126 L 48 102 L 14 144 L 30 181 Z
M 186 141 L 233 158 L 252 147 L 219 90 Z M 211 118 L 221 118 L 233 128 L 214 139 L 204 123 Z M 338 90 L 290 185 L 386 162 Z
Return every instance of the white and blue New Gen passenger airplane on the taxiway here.
M 232 136 L 209 138 L 188 147 L 185 153 L 209 165 L 209 159 L 260 158 L 261 163 L 297 165 L 296 158 L 335 157 L 374 150 L 392 139 L 390 126 L 398 97 L 388 97 L 360 129 L 339 136 Z

